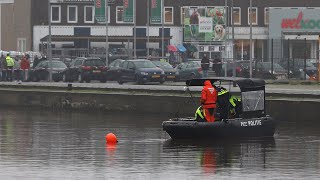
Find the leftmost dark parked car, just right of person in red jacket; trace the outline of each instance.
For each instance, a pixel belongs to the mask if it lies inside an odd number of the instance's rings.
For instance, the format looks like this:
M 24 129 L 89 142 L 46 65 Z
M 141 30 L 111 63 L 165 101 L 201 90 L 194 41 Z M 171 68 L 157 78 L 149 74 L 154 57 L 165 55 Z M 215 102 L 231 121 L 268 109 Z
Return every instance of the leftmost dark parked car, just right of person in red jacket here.
M 50 61 L 45 60 L 37 64 L 36 67 L 29 70 L 28 81 L 40 81 L 46 80 L 49 81 L 49 71 L 50 71 Z M 67 66 L 61 61 L 52 61 L 52 80 L 55 82 L 62 80 L 63 71 Z

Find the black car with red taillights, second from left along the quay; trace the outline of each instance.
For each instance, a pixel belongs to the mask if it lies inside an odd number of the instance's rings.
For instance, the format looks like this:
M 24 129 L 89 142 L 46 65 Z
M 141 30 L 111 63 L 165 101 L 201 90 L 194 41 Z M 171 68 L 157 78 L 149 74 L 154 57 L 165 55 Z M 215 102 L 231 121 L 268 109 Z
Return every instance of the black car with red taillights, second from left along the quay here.
M 89 83 L 91 80 L 106 82 L 107 66 L 99 58 L 76 58 L 63 72 L 64 82 L 83 81 Z

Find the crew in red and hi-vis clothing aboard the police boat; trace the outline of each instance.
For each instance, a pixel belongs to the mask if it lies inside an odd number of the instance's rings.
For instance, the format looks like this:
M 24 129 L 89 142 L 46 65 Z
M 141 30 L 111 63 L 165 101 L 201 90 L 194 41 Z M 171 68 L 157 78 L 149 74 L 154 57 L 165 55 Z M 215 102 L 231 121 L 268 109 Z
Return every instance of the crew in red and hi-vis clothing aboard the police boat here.
M 214 122 L 216 115 L 222 120 L 237 118 L 241 114 L 241 99 L 231 95 L 222 86 L 212 85 L 209 80 L 204 81 L 200 103 L 195 113 L 197 121 Z

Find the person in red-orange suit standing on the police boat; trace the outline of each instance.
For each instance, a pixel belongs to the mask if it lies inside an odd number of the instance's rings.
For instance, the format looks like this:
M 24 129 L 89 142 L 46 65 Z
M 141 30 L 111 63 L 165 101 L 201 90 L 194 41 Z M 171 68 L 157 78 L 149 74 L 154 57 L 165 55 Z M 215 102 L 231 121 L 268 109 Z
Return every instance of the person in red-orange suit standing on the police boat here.
M 200 102 L 204 110 L 204 116 L 208 122 L 214 122 L 214 109 L 216 108 L 217 96 L 218 92 L 216 88 L 212 86 L 209 80 L 205 80 Z

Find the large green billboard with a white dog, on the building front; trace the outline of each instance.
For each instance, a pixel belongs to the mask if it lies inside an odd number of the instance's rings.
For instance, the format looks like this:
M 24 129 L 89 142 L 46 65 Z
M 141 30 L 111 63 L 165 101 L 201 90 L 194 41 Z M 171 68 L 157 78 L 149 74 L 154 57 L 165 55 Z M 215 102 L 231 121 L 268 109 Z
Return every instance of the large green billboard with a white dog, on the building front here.
M 216 7 L 184 8 L 184 41 L 224 41 L 226 10 Z

